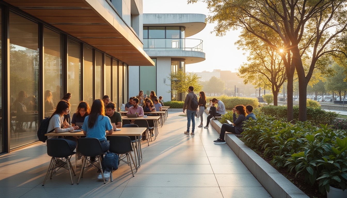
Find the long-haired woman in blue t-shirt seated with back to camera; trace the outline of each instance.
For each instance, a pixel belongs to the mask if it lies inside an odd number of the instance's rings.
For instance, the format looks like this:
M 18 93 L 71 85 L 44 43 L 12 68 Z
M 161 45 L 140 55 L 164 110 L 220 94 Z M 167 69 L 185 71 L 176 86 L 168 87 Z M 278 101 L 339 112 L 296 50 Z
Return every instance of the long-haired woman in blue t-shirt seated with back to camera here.
M 106 152 L 109 149 L 110 143 L 107 141 L 105 134 L 113 134 L 113 127 L 111 125 L 110 118 L 105 116 L 104 103 L 100 99 L 94 100 L 90 114 L 87 115 L 84 119 L 82 129 L 83 134 L 86 135 L 87 138 L 99 139 L 103 152 Z M 103 160 L 103 155 L 101 156 L 101 158 Z M 105 170 L 103 164 L 102 170 L 104 170 L 104 178 L 109 178 L 110 171 Z M 102 179 L 101 173 L 99 174 L 98 179 Z

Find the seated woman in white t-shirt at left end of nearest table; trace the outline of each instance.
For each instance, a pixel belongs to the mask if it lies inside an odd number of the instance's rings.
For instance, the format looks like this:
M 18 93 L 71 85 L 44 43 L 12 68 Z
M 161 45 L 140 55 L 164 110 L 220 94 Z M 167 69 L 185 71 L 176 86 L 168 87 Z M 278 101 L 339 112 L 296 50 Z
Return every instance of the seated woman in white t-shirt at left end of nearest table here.
M 58 102 L 56 110 L 54 111 L 54 113 L 52 114 L 50 120 L 49 120 L 49 124 L 48 124 L 48 132 L 51 132 L 53 129 L 56 133 L 62 133 L 62 132 L 68 132 L 68 131 L 72 131 L 75 129 L 78 129 L 78 126 L 72 127 L 72 126 L 67 126 L 64 128 L 64 115 L 67 115 L 70 109 L 70 103 L 65 101 L 65 100 L 61 100 Z M 71 151 L 75 150 L 75 148 L 77 147 L 77 139 L 71 136 L 66 136 L 66 137 L 62 137 L 62 136 L 48 136 L 48 139 L 52 139 L 52 138 L 64 138 L 66 139 L 66 141 L 69 143 L 70 149 Z

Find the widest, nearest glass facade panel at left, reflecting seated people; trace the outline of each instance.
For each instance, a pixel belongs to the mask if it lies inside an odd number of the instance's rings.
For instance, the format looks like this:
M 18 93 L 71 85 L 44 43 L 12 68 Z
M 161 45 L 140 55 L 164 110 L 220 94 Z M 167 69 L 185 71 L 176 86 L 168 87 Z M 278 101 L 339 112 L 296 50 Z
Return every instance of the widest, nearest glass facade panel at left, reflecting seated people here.
M 12 149 L 38 140 L 39 27 L 13 12 L 9 18 Z

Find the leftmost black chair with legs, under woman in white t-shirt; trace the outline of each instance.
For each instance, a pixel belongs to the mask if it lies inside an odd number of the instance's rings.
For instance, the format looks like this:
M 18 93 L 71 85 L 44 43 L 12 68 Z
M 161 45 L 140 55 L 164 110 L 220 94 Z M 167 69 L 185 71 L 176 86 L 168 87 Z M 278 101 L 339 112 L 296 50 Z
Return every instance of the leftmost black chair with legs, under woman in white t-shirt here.
M 72 175 L 71 175 L 71 169 L 75 174 L 75 171 L 71 165 L 70 162 L 70 156 L 76 154 L 76 152 L 72 152 L 69 146 L 69 143 L 62 138 L 58 139 L 48 139 L 47 140 L 47 154 L 51 156 L 51 163 L 48 166 L 46 177 L 44 178 L 42 186 L 44 186 L 44 183 L 46 182 L 49 173 L 51 172 L 51 178 L 53 176 L 53 172 L 56 171 L 56 169 L 64 168 L 68 169 L 70 173 L 71 178 L 71 185 L 74 184 L 72 181 Z M 65 162 L 60 160 L 60 158 L 65 158 Z M 67 165 L 67 168 L 64 165 Z

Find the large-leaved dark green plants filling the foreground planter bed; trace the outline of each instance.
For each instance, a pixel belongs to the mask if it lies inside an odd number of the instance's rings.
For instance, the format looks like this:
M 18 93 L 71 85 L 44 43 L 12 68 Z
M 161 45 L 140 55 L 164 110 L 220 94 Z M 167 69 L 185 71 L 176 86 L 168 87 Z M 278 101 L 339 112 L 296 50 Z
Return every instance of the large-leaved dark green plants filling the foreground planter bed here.
M 256 113 L 257 120 L 244 124 L 245 145 L 272 156 L 276 168 L 287 168 L 303 176 L 308 184 L 319 181 L 320 192 L 329 185 L 346 188 L 347 132 L 328 124 L 319 127 L 310 122 L 283 122 Z

